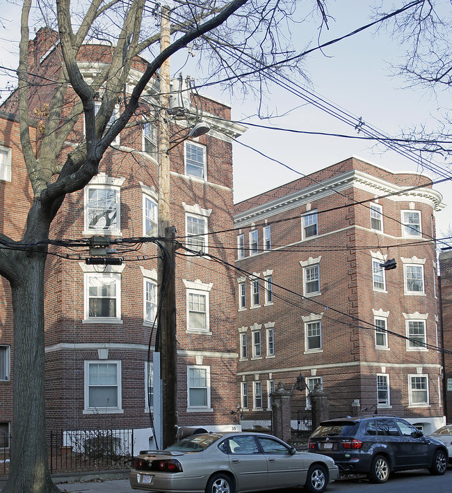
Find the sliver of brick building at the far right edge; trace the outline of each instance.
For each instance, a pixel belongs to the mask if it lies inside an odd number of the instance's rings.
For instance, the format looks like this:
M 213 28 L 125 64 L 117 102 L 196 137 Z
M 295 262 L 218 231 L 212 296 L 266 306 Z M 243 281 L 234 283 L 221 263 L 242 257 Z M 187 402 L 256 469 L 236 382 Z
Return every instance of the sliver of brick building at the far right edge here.
M 452 350 L 452 251 L 439 253 L 439 286 L 441 293 L 442 345 Z M 446 421 L 452 423 L 452 354 L 444 353 L 444 405 Z

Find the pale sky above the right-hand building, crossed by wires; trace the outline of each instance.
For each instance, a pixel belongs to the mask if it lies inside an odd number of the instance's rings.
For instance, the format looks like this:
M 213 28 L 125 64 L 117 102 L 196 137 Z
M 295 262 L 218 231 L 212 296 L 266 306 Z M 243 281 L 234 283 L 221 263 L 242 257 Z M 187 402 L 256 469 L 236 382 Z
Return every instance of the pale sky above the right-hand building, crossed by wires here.
M 307 1 L 310 0 L 305 0 Z M 321 42 L 343 36 L 367 24 L 371 15 L 369 3 L 372 3 L 372 0 L 329 0 L 329 13 L 335 20 L 330 21 L 329 31 L 323 31 Z M 397 6 L 402 5 L 398 0 L 394 3 Z M 17 67 L 19 17 L 17 6 L 0 0 L 0 65 L 9 68 Z M 302 51 L 309 41 L 316 42 L 316 26 L 312 24 L 309 27 L 310 29 L 305 29 L 304 26 L 300 26 L 300 32 L 293 33 L 293 41 L 298 51 Z M 428 124 L 437 116 L 439 106 L 449 104 L 450 95 L 440 95 L 441 100 L 445 102 L 441 105 L 434 97 L 419 90 L 403 88 L 404 82 L 400 77 L 390 77 L 389 63 L 396 63 L 402 54 L 402 49 L 385 31 L 364 31 L 324 49 L 323 53 L 317 51 L 306 59 L 305 68 L 311 81 L 309 91 L 314 91 L 357 117 L 362 116 L 364 122 L 390 136 L 399 134 L 400 129 L 404 127 Z M 177 70 L 176 63 L 172 63 L 172 68 Z M 193 70 L 190 75 L 195 77 Z M 6 87 L 8 80 L 13 83 L 15 81 L 13 77 L 4 77 L 0 73 L 0 90 Z M 226 95 L 221 95 L 211 88 L 203 92 L 227 101 Z M 3 99 L 6 93 L 1 95 Z M 257 104 L 251 98 L 227 102 L 232 105 L 232 117 L 236 120 L 257 112 Z M 273 86 L 271 92 L 266 95 L 265 103 L 268 105 L 268 112 L 273 115 L 286 114 L 288 111 L 289 114 L 275 118 L 271 123 L 257 118 L 248 121 L 296 130 L 356 134 L 352 127 L 310 104 L 305 104 L 299 97 L 289 94 L 283 88 Z M 305 174 L 355 155 L 393 171 L 423 171 L 434 180 L 438 178 L 437 175 L 421 169 L 419 163 L 395 152 L 376 153 L 367 141 L 305 136 L 253 127 L 239 140 Z M 442 166 L 447 164 L 444 161 L 438 162 Z M 295 180 L 298 176 L 282 165 L 271 162 L 240 144 L 234 144 L 235 201 Z M 452 205 L 452 187 L 449 182 L 436 185 L 435 189 L 443 194 L 444 203 Z M 449 215 L 449 207 L 437 214 L 439 236 L 449 229 Z

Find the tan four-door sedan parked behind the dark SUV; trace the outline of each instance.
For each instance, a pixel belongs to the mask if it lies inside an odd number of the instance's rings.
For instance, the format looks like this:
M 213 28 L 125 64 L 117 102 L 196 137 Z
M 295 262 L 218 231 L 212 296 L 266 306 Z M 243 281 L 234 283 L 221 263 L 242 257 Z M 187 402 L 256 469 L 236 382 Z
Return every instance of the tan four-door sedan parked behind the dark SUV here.
M 200 433 L 163 451 L 141 451 L 130 472 L 134 490 L 240 493 L 304 486 L 323 492 L 339 476 L 334 460 L 297 452 L 271 435 Z

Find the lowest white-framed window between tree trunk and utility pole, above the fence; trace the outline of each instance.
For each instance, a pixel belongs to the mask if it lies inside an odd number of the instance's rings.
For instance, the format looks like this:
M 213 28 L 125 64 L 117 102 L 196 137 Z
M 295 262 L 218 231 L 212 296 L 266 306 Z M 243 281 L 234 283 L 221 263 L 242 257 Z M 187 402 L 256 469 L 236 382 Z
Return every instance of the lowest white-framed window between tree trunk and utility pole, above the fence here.
M 121 361 L 85 361 L 85 411 L 121 412 Z

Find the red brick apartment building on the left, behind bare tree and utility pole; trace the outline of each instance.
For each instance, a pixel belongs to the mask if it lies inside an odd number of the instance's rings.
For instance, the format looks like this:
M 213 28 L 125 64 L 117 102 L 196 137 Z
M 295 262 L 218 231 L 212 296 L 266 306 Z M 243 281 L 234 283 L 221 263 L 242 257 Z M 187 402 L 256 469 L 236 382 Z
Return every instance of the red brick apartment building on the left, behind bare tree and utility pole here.
M 41 29 L 30 42 L 31 72 L 56 79 L 58 46 Z M 79 64 L 86 79 L 108 63 L 108 47 L 85 45 Z M 145 63 L 134 61 L 139 75 Z M 132 76 L 134 71 L 132 71 Z M 137 75 L 137 77 L 138 77 Z M 134 81 L 129 81 L 133 84 Z M 54 220 L 52 239 L 93 235 L 127 238 L 156 235 L 157 142 L 153 81 L 136 125 L 126 128 L 106 152 L 85 189 L 67 196 Z M 31 95 L 31 112 L 42 115 L 51 85 Z M 102 97 L 102 94 L 99 94 Z M 72 94 L 67 94 L 67 112 Z M 0 231 L 19 239 L 33 196 L 20 150 L 17 102 L 10 97 L 0 116 Z M 211 130 L 170 152 L 170 214 L 177 237 L 227 263 L 234 253 L 232 230 L 232 138 L 245 127 L 230 121 L 230 108 L 203 97 L 203 120 Z M 120 105 L 118 111 L 121 111 Z M 220 117 L 220 118 L 218 118 Z M 45 123 L 45 117 L 44 123 Z M 184 125 L 185 120 L 173 122 Z M 40 123 L 33 128 L 39 143 Z M 180 130 L 175 127 L 173 130 Z M 83 118 L 67 139 L 68 152 L 83 140 Z M 52 253 L 71 253 L 51 247 Z M 135 428 L 136 448 L 148 447 L 147 349 L 156 315 L 156 256 L 152 243 L 128 253 L 122 265 L 86 265 L 49 255 L 45 279 L 47 426 L 51 429 Z M 145 260 L 143 260 L 145 259 Z M 228 426 L 236 421 L 235 279 L 229 268 L 193 255 L 176 257 L 177 410 L 179 425 Z M 8 284 L 0 283 L 0 427 L 12 423 L 13 322 Z M 152 387 L 154 383 L 150 382 Z M 151 398 L 153 394 L 151 392 Z

